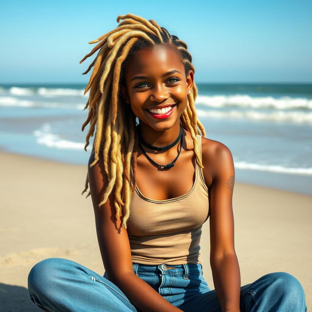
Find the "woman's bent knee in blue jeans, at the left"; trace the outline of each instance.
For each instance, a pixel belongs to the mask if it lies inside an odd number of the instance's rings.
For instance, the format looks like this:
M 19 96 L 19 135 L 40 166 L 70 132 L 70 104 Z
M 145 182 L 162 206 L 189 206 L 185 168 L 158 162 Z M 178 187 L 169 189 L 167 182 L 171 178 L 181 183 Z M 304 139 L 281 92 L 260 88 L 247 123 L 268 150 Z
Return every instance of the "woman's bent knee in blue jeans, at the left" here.
M 31 294 L 49 292 L 58 280 L 59 271 L 65 262 L 62 258 L 47 258 L 36 263 L 28 274 L 28 291 Z

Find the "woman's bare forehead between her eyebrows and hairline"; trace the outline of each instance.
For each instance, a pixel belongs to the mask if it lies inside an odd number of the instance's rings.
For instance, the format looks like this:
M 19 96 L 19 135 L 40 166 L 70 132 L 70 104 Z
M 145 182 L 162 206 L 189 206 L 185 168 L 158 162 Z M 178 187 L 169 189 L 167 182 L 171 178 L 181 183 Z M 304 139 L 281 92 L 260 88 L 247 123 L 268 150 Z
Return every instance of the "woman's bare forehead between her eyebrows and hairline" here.
M 137 51 L 129 59 L 125 74 L 127 78 L 131 78 L 143 72 L 157 75 L 173 69 L 181 73 L 184 71 L 184 64 L 178 50 L 170 45 L 154 45 Z

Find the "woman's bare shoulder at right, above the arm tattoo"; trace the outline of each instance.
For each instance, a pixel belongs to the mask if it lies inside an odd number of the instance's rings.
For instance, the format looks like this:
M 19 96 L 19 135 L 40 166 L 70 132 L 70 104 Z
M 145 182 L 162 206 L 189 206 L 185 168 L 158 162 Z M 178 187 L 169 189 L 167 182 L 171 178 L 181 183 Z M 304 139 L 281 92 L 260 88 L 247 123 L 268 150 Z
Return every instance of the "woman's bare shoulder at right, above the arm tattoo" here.
M 204 171 L 212 177 L 222 173 L 234 174 L 234 162 L 230 149 L 223 143 L 206 137 L 201 139 Z

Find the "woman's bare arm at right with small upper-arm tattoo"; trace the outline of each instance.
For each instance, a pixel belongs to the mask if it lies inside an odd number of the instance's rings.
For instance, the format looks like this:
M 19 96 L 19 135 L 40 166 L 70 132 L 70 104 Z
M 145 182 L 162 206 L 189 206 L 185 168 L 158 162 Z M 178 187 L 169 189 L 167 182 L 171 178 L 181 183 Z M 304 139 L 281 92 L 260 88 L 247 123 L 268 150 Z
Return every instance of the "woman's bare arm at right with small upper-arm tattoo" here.
M 222 312 L 239 312 L 240 271 L 234 249 L 232 195 L 234 162 L 231 151 L 216 142 L 210 186 L 210 265 Z

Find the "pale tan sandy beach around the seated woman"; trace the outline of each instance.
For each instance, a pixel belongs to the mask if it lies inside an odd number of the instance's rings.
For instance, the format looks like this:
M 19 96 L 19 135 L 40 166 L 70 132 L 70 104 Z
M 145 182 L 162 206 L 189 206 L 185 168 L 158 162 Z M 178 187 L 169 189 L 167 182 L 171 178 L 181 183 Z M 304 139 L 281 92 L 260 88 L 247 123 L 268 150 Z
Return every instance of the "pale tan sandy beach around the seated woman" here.
M 0 152 L 1 311 L 41 311 L 29 299 L 27 276 L 38 261 L 68 258 L 104 273 L 91 197 L 81 195 L 87 165 L 69 165 Z M 312 307 L 312 197 L 236 183 L 235 249 L 241 285 L 271 272 L 302 284 Z M 209 264 L 209 221 L 201 239 L 204 276 Z

